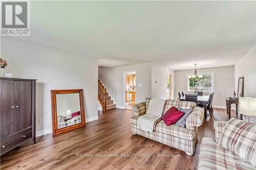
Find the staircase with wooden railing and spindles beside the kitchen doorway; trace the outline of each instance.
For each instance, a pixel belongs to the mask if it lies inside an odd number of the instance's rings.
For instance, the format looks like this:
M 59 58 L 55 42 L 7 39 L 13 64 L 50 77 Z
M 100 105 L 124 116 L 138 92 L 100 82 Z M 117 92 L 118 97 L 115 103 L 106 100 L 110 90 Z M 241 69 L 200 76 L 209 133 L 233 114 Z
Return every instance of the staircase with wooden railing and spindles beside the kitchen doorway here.
M 98 80 L 98 100 L 102 106 L 102 111 L 116 108 L 116 104 L 111 100 L 111 96 L 106 92 L 106 88 L 100 80 Z

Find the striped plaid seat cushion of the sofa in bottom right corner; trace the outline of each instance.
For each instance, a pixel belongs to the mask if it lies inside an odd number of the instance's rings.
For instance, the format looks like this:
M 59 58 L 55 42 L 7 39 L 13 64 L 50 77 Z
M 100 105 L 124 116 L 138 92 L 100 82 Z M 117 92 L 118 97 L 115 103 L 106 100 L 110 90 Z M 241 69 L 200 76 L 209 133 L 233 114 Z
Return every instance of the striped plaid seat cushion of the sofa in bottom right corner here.
M 255 170 L 251 164 L 218 145 L 214 139 L 203 137 L 199 155 L 198 170 L 248 169 Z

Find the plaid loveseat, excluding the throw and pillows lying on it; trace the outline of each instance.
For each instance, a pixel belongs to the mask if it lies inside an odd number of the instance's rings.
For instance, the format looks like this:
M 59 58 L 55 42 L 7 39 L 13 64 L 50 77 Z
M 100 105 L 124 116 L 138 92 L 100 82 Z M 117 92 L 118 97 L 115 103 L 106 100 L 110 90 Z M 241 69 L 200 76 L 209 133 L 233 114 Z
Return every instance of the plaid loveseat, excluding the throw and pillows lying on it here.
M 166 100 L 163 113 L 173 106 L 183 109 L 193 109 L 186 119 L 185 128 L 178 125 L 166 126 L 160 118 L 155 122 L 153 132 L 145 132 L 137 129 L 137 120 L 139 116 L 146 113 L 150 100 L 151 99 L 146 99 L 146 102 L 136 104 L 132 107 L 134 113 L 134 116 L 130 119 L 132 133 L 185 151 L 187 155 L 193 155 L 197 141 L 197 130 L 198 127 L 202 125 L 204 119 L 202 108 L 196 107 L 196 103 L 194 102 Z

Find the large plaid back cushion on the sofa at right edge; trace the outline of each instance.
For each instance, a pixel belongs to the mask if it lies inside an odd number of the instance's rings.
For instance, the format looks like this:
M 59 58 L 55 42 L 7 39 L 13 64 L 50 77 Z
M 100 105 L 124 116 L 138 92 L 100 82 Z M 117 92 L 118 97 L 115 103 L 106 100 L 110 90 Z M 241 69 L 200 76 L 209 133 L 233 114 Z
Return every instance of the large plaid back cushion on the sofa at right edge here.
M 256 124 L 231 118 L 222 131 L 219 144 L 256 166 Z

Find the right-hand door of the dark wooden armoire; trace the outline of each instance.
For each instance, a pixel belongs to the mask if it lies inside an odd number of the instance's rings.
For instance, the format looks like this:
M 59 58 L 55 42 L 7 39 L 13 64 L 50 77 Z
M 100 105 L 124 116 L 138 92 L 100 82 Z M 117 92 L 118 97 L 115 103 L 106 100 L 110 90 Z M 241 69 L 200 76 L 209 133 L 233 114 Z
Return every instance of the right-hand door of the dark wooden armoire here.
M 32 83 L 14 81 L 14 130 L 24 130 L 32 126 Z

